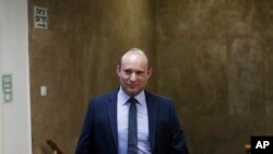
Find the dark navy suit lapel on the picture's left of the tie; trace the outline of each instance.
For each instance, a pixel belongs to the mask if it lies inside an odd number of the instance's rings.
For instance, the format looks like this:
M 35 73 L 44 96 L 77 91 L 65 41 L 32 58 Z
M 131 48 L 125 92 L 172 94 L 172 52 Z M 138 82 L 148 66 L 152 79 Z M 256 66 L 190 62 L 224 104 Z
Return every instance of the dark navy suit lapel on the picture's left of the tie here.
M 116 147 L 118 147 L 118 127 L 117 127 L 117 93 L 108 99 L 108 117 Z

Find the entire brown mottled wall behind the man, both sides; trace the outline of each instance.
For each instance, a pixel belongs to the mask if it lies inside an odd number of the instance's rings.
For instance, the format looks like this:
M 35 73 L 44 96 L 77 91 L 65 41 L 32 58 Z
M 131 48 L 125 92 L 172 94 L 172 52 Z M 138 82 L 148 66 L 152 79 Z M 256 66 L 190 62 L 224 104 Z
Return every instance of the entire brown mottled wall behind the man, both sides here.
M 33 28 L 33 5 L 49 29 Z M 273 134 L 270 0 L 29 0 L 32 132 L 73 153 L 87 99 L 117 88 L 118 57 L 147 51 L 149 88 L 173 97 L 192 154 L 245 153 Z M 39 86 L 48 96 L 39 96 Z

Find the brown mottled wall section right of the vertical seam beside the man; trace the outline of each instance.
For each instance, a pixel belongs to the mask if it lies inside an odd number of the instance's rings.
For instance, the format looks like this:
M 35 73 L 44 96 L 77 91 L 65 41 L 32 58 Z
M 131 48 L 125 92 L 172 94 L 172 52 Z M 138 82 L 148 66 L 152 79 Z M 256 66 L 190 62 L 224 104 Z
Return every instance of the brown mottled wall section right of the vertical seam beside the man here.
M 157 1 L 158 92 L 176 100 L 192 154 L 245 153 L 251 134 L 273 134 L 272 5 Z

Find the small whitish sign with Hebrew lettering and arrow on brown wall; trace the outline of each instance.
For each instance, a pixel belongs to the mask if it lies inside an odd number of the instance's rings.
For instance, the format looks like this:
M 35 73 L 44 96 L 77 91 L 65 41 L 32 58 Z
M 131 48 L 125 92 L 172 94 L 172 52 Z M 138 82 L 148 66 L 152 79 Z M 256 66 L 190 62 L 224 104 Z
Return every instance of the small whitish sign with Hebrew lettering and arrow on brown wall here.
M 34 27 L 47 29 L 47 9 L 34 7 Z

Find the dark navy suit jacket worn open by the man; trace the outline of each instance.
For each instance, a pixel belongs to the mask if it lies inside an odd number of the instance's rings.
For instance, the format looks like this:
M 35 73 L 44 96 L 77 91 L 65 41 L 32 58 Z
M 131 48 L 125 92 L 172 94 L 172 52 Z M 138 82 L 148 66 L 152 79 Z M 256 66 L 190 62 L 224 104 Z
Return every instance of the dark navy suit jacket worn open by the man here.
M 149 92 L 145 97 L 152 153 L 188 154 L 173 102 Z M 75 154 L 117 153 L 117 92 L 112 92 L 90 100 Z

